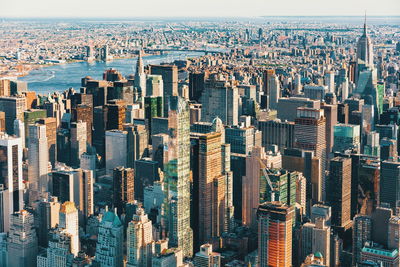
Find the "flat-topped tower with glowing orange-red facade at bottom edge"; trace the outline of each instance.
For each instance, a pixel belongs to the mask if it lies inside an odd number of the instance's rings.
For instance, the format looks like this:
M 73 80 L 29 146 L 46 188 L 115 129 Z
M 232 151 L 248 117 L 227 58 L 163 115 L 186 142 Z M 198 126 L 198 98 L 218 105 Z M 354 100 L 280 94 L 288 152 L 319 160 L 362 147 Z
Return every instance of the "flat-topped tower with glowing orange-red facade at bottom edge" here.
M 258 215 L 258 266 L 292 266 L 294 208 L 279 202 L 265 202 Z

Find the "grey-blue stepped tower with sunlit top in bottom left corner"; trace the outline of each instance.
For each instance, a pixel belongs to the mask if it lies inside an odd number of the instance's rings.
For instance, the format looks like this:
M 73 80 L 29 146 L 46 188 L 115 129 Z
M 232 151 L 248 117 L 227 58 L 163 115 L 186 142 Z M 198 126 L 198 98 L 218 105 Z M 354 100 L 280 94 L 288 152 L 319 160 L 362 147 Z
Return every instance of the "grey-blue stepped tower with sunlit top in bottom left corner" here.
M 9 266 L 36 266 L 38 242 L 33 220 L 33 215 L 26 210 L 11 215 L 7 243 Z

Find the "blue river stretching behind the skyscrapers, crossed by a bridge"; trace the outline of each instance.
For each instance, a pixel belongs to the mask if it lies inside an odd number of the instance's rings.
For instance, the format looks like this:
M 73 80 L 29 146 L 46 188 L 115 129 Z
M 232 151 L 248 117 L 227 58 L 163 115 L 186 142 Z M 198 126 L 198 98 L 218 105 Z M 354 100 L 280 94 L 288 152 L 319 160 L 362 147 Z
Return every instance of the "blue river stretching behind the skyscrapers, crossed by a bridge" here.
M 143 62 L 147 64 L 160 64 L 183 60 L 187 58 L 199 57 L 204 55 L 202 52 L 169 52 L 164 55 L 152 55 L 143 57 Z M 134 74 L 136 70 L 137 58 L 116 59 L 109 62 L 76 62 L 70 64 L 54 65 L 31 71 L 27 76 L 19 78 L 21 81 L 28 82 L 30 91 L 38 94 L 47 94 L 55 91 L 64 91 L 70 87 L 79 89 L 81 79 L 90 76 L 93 79 L 102 79 L 106 69 L 114 68 L 124 76 Z

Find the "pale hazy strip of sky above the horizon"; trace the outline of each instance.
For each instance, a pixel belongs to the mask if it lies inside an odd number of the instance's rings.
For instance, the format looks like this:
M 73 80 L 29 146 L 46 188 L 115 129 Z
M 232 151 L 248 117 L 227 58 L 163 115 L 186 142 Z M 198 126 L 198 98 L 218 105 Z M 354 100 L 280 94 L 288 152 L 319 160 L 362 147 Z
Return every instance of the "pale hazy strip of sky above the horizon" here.
M 0 0 L 0 17 L 400 16 L 400 0 Z

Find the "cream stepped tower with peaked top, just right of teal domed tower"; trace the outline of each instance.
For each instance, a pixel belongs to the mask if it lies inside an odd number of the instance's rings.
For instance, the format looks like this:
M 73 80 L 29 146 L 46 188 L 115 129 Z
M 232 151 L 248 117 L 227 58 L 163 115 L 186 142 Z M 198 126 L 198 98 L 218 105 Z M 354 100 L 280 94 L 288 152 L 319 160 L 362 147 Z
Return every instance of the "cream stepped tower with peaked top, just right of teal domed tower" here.
M 152 223 L 142 208 L 136 210 L 127 230 L 127 266 L 151 267 L 154 253 Z

